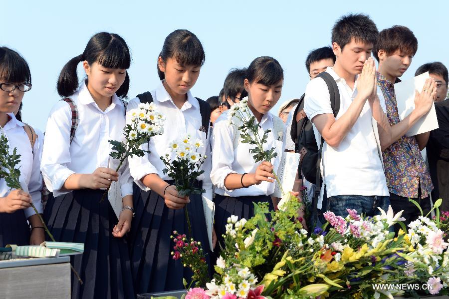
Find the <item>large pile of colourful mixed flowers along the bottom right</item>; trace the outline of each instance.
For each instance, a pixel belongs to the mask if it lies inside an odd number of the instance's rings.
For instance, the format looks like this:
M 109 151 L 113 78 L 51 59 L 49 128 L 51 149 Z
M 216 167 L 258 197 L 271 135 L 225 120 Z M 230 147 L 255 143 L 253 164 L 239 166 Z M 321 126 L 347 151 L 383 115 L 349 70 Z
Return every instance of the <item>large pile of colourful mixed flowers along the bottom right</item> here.
M 391 227 L 402 212 L 391 207 L 375 217 L 328 211 L 327 224 L 308 233 L 297 218 L 300 206 L 292 197 L 283 211 L 255 204 L 251 219 L 229 217 L 214 280 L 198 285 L 204 298 L 378 299 L 404 291 L 374 286 L 416 283 L 429 286 L 426 294 L 448 294 L 448 244 L 430 219 L 420 217 L 395 236 Z

